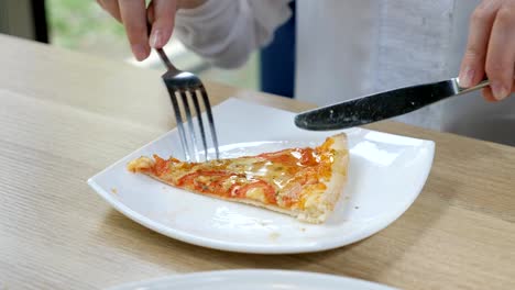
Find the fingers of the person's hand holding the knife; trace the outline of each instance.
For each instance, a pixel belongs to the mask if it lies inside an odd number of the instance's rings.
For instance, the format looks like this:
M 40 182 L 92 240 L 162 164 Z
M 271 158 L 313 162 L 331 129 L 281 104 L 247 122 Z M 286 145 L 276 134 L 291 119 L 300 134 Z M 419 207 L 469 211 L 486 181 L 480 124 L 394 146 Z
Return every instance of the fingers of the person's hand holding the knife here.
M 489 101 L 515 92 L 515 0 L 483 0 L 470 19 L 467 49 L 461 62 L 460 86 L 478 85 L 486 74 Z

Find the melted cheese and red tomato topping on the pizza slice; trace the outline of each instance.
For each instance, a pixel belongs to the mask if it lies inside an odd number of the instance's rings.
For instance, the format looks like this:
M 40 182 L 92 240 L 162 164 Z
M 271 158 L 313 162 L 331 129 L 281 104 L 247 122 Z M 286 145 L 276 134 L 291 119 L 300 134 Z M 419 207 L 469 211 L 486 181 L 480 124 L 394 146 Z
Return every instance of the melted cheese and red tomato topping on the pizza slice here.
M 330 146 L 331 140 L 328 140 L 316 148 L 284 149 L 202 164 L 173 157 L 166 160 L 154 155 L 154 160 L 142 157 L 139 164 L 131 163 L 131 170 L 151 171 L 179 188 L 201 193 L 304 208 L 313 201 L 302 197 L 302 192 L 326 189 L 324 182 L 331 176 L 335 155 Z

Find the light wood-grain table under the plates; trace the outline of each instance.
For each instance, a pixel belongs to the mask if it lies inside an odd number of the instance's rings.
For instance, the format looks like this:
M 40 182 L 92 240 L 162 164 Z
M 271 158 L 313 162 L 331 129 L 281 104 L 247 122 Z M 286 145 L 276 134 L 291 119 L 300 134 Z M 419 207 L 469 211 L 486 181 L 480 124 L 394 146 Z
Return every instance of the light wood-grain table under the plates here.
M 160 71 L 0 35 L 0 285 L 90 289 L 171 274 L 278 268 L 405 289 L 515 287 L 515 148 L 394 122 L 436 142 L 424 191 L 386 230 L 307 255 L 211 250 L 121 215 L 86 180 L 174 127 Z M 208 83 L 299 111 L 311 105 Z M 1 288 L 1 287 L 0 287 Z

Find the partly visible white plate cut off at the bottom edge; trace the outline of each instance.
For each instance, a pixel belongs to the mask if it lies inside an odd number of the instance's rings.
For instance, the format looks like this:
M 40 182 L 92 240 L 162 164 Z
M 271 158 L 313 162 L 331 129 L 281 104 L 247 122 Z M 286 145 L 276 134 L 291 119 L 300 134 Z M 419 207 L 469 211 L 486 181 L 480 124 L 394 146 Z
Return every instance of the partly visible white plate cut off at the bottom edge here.
M 228 270 L 169 276 L 110 290 L 393 290 L 369 281 L 325 274 L 282 270 Z

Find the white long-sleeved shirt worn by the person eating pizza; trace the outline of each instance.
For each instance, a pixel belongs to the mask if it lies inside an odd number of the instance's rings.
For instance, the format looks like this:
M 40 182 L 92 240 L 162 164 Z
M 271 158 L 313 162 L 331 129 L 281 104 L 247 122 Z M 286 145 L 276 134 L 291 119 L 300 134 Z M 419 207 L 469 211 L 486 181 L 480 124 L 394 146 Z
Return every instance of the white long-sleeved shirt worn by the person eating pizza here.
M 208 0 L 197 9 L 180 10 L 175 33 L 212 64 L 238 67 L 252 51 L 270 43 L 275 29 L 291 16 L 288 2 Z M 479 0 L 297 0 L 295 98 L 324 105 L 456 77 L 469 15 L 478 3 Z M 515 120 L 513 114 L 515 98 L 492 104 L 479 93 L 470 93 L 397 120 L 515 143 L 515 134 L 498 130 L 502 120 Z M 513 127 L 514 121 L 511 122 L 504 125 Z

